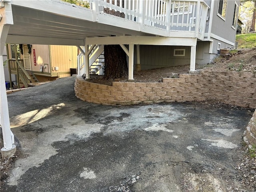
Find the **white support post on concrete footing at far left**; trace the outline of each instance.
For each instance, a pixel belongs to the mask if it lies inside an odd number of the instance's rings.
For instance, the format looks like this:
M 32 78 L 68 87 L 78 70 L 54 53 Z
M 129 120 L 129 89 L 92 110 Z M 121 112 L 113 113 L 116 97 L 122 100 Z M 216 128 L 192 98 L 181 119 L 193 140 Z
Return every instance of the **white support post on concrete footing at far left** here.
M 14 144 L 14 138 L 10 129 L 9 110 L 4 78 L 4 61 L 3 52 L 4 44 L 6 42 L 7 34 L 9 31 L 9 25 L 0 25 L 0 124 L 2 126 L 2 134 L 4 140 L 4 147 L 1 148 L 3 158 L 8 158 L 16 152 L 16 146 Z

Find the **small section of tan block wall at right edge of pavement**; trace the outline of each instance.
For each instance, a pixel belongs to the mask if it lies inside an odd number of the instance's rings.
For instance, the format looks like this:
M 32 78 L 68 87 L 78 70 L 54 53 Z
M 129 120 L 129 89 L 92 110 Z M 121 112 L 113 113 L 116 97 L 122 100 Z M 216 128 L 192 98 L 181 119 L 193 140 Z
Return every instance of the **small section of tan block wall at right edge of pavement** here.
M 244 142 L 248 145 L 249 148 L 252 148 L 253 145 L 256 145 L 256 110 L 244 131 Z

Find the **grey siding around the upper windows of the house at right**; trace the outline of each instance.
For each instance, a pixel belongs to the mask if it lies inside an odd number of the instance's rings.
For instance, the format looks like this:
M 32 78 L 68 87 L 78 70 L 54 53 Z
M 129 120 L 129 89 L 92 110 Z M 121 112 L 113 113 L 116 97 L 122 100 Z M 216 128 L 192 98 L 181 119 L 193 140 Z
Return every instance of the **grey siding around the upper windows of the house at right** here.
M 214 1 L 214 12 L 213 12 L 213 18 L 212 18 L 211 33 L 217 36 L 220 36 L 230 42 L 234 42 L 236 37 L 236 30 L 232 28 L 235 2 L 239 5 L 239 0 L 236 0 L 236 1 L 228 0 L 226 19 L 224 21 L 222 18 L 220 18 L 220 16 L 217 15 L 219 1 L 218 0 Z

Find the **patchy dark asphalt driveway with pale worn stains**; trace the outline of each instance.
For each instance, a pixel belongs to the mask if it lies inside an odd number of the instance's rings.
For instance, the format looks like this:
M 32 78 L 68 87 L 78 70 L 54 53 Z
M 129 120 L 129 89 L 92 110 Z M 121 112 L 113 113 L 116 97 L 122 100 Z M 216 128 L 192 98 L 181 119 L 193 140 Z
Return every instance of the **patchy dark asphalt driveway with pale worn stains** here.
M 74 78 L 8 95 L 24 154 L 3 191 L 179 192 L 243 189 L 237 166 L 252 112 L 221 105 L 102 106 Z

